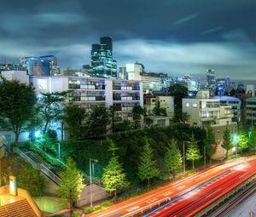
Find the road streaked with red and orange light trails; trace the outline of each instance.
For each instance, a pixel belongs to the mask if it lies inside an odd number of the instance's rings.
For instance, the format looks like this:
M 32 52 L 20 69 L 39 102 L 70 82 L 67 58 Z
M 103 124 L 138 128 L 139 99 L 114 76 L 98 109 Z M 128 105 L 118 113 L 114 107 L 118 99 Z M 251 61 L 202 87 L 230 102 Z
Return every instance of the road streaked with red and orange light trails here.
M 169 201 L 167 203 L 168 205 L 147 216 L 172 216 L 168 213 L 168 210 L 173 210 L 173 207 L 175 207 L 173 212 L 176 212 L 176 215 L 177 212 L 181 212 L 182 210 L 183 212 L 189 213 L 189 207 L 193 207 L 193 209 L 195 209 L 195 207 L 200 206 L 201 203 L 205 204 L 206 201 L 210 201 L 212 198 L 215 198 L 216 195 L 220 195 L 224 191 L 227 191 L 228 187 L 231 186 L 232 183 L 247 179 L 247 177 L 253 173 L 247 172 L 247 170 L 249 170 L 248 168 L 251 168 L 251 164 L 256 166 L 256 160 L 253 160 L 251 163 L 247 163 L 247 159 L 242 158 L 231 163 L 207 168 L 198 173 L 192 174 L 183 180 L 177 180 L 154 191 L 149 191 L 142 196 L 134 197 L 125 202 L 115 204 L 108 208 L 108 210 L 101 213 L 89 214 L 89 216 L 129 216 L 137 211 L 141 211 L 142 208 L 146 208 L 163 200 Z M 224 185 L 221 190 L 219 190 L 219 181 Z M 209 186 L 211 186 L 211 188 L 209 188 Z M 203 192 L 206 192 L 206 194 Z M 197 198 L 201 197 L 207 197 L 207 199 L 197 200 Z M 196 204 L 188 207 L 188 204 L 195 202 Z M 185 216 L 180 214 L 178 213 L 177 216 Z

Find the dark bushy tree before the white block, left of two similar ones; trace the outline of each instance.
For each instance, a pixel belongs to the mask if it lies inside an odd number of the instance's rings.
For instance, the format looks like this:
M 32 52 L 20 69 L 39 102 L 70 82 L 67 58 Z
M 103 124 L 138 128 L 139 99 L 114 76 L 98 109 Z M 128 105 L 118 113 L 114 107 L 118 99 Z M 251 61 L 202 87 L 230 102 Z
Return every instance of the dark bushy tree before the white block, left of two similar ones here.
M 89 132 L 87 123 L 88 113 L 85 108 L 79 106 L 66 106 L 64 109 L 64 121 L 67 123 L 67 131 L 73 140 L 83 140 Z

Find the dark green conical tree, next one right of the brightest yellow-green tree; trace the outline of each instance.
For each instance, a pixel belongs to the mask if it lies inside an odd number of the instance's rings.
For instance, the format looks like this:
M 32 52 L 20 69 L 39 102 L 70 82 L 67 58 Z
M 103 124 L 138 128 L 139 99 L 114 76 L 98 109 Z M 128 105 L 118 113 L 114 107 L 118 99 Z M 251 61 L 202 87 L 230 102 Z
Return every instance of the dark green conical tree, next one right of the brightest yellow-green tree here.
M 148 144 L 143 146 L 143 152 L 139 157 L 138 176 L 140 180 L 148 180 L 148 190 L 150 188 L 150 179 L 160 174 L 160 170 L 156 167 L 156 160 L 153 154 L 153 149 Z

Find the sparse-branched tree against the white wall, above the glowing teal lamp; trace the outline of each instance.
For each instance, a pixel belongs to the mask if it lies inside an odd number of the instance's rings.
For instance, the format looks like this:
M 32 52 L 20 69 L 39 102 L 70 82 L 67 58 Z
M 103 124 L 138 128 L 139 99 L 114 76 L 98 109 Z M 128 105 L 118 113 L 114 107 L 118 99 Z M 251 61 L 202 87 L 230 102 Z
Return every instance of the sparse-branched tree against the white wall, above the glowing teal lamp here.
M 38 100 L 38 117 L 42 119 L 43 134 L 46 134 L 49 124 L 61 120 L 67 92 L 41 93 Z

